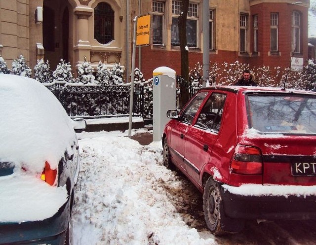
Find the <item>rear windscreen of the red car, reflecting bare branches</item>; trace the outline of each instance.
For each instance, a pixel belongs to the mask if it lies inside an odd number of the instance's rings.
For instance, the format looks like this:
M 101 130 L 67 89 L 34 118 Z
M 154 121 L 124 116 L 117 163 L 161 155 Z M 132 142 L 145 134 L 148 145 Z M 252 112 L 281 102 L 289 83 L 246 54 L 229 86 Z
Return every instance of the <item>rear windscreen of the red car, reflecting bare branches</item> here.
M 249 128 L 265 133 L 316 134 L 316 97 L 248 95 Z

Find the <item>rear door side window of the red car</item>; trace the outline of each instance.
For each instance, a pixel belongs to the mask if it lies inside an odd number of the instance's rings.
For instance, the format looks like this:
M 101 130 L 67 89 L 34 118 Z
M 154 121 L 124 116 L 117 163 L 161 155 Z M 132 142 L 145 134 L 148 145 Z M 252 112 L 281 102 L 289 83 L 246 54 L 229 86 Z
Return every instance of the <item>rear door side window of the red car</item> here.
M 226 95 L 213 93 L 197 118 L 197 126 L 206 130 L 219 131 Z

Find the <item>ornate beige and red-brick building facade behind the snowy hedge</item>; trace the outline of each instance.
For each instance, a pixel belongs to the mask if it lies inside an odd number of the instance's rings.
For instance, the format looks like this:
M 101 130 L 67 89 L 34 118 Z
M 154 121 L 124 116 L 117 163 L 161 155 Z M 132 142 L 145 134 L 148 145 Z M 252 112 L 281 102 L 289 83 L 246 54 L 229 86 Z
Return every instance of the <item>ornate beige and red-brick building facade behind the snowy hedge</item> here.
M 309 0 L 209 0 L 209 43 L 203 43 L 202 1 L 190 1 L 189 66 L 240 61 L 251 67 L 289 67 L 308 59 Z M 177 18 L 181 0 L 0 0 L 0 55 L 11 67 L 23 54 L 33 69 L 43 58 L 55 70 L 60 59 L 76 68 L 86 60 L 131 72 L 135 16 L 151 14 L 149 46 L 136 49 L 146 79 L 167 66 L 181 73 Z M 127 78 L 128 81 L 129 78 Z

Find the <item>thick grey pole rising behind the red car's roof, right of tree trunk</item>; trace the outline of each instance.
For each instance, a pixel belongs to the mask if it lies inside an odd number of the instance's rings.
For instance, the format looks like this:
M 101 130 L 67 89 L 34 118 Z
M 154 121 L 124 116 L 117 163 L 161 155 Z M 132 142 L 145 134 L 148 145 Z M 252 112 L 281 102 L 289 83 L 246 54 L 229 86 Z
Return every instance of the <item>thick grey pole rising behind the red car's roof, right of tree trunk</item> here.
M 206 82 L 209 77 L 209 6 L 208 0 L 203 0 L 203 84 L 206 86 Z

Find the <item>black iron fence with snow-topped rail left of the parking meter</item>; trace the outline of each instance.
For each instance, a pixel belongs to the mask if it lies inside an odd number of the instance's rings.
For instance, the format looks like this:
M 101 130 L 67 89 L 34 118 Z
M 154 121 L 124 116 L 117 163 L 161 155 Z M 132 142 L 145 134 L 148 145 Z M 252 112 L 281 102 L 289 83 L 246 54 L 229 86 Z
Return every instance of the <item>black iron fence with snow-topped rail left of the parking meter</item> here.
M 44 84 L 60 101 L 69 116 L 106 117 L 129 114 L 130 83 L 92 85 L 68 82 Z M 153 83 L 134 83 L 133 116 L 153 117 Z

